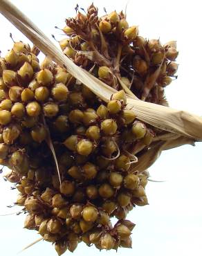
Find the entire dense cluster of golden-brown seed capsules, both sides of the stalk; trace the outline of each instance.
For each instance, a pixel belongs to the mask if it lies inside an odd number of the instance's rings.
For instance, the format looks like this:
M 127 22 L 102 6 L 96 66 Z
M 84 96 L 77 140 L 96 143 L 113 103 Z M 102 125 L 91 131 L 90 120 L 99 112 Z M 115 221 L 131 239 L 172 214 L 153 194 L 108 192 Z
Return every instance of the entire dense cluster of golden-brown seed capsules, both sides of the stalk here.
M 39 64 L 35 46 L 15 42 L 0 59 L 0 163 L 28 212 L 25 228 L 53 242 L 58 255 L 80 241 L 131 248 L 135 224 L 126 217 L 147 205 L 148 178 L 134 166 L 155 130 L 126 108 L 125 91 L 165 104 L 176 46 L 138 36 L 122 12 L 98 18 L 93 5 L 66 24 L 64 54 L 118 92 L 102 102 L 48 57 Z

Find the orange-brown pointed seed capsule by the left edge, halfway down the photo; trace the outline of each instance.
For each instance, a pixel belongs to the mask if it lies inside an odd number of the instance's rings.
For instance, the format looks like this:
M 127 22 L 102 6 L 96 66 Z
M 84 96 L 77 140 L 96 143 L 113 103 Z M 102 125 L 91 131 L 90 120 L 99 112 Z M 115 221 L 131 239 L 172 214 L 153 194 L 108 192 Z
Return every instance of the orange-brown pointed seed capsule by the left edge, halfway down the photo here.
M 21 134 L 21 127 L 10 125 L 3 129 L 3 141 L 6 144 L 12 144 Z

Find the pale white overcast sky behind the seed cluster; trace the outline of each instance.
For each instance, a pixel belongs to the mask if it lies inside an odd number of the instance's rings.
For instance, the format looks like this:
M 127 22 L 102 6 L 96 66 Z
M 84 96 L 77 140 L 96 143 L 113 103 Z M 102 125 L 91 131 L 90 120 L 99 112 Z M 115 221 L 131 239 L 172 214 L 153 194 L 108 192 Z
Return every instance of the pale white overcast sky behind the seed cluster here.
M 26 1 L 13 0 L 46 35 L 62 38 L 54 26 L 63 27 L 64 19 L 75 15 L 76 3 L 86 8 L 91 1 Z M 127 1 L 94 1 L 103 14 L 125 9 Z M 1 1 L 0 1 L 1 5 Z M 184 109 L 202 116 L 201 84 L 201 42 L 202 18 L 201 1 L 129 1 L 127 8 L 129 25 L 138 25 L 140 35 L 149 39 L 158 39 L 162 43 L 176 40 L 179 56 L 177 62 L 178 79 L 166 89 L 171 107 Z M 12 47 L 9 33 L 15 41 L 28 42 L 4 17 L 0 15 L 0 50 L 6 53 Z M 201 127 L 202 129 L 202 127 Z M 120 249 L 118 253 L 102 251 L 102 255 L 122 253 L 137 256 L 201 256 L 202 237 L 202 143 L 196 147 L 190 145 L 172 149 L 158 158 L 150 168 L 153 179 L 166 180 L 164 183 L 147 185 L 149 205 L 137 207 L 128 216 L 136 223 L 132 235 L 133 248 Z M 9 190 L 10 183 L 0 176 L 0 214 L 15 212 L 17 208 L 6 208 L 15 201 L 16 191 Z M 0 245 L 2 256 L 16 255 L 21 248 L 39 237 L 35 231 L 23 229 L 24 215 L 0 217 Z M 94 255 L 99 253 L 93 247 L 80 244 L 75 255 Z M 21 253 L 22 256 L 56 255 L 53 246 L 45 241 Z M 68 255 L 68 252 L 66 253 Z

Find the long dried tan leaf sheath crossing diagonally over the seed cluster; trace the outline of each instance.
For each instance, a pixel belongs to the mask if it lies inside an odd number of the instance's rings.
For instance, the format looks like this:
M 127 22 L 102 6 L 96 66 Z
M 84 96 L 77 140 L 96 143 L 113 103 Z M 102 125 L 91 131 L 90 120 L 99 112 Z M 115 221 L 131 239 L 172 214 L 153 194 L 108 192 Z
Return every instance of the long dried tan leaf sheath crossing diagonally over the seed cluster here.
M 49 55 L 57 64 L 66 66 L 71 75 L 89 87 L 93 93 L 102 100 L 108 101 L 116 90 L 104 84 L 87 71 L 79 68 L 68 59 L 59 49 L 39 30 L 20 10 L 9 1 L 0 1 L 0 11 L 12 24 L 14 24 L 28 39 L 30 39 L 40 50 Z M 196 140 L 202 140 L 202 118 L 192 115 L 186 111 L 178 111 L 168 107 L 132 100 L 128 97 L 129 108 L 134 109 L 137 117 L 149 125 L 160 129 L 183 134 Z

